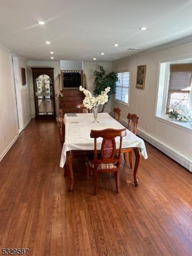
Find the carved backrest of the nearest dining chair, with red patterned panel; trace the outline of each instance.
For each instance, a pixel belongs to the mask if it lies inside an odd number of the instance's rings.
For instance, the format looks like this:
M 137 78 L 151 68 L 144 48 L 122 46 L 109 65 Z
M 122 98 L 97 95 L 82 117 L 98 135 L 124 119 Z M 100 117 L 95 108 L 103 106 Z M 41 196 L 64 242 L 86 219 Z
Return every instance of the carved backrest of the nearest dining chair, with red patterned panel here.
M 122 151 L 122 137 L 126 136 L 126 128 L 105 129 L 105 130 L 91 130 L 90 137 L 94 138 L 94 164 L 102 162 L 116 162 L 118 166 L 121 164 L 121 151 Z M 97 159 L 97 138 L 103 138 L 101 147 L 102 160 Z M 119 154 L 116 157 L 116 142 L 115 138 L 120 137 Z

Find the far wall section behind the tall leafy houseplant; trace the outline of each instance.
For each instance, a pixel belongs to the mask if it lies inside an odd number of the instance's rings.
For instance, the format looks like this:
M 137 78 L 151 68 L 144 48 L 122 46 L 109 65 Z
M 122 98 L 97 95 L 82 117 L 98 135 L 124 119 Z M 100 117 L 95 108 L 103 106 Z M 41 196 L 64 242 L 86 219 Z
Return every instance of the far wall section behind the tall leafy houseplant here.
M 95 70 L 99 71 L 98 66 L 101 65 L 106 74 L 110 73 L 112 70 L 112 63 L 111 62 L 84 62 L 83 63 L 83 73 L 86 75 L 87 79 L 87 87 L 88 90 L 93 94 L 94 90 L 94 76 L 93 73 Z M 109 100 L 108 104 L 105 107 L 105 112 L 109 113 L 111 111 L 111 99 Z

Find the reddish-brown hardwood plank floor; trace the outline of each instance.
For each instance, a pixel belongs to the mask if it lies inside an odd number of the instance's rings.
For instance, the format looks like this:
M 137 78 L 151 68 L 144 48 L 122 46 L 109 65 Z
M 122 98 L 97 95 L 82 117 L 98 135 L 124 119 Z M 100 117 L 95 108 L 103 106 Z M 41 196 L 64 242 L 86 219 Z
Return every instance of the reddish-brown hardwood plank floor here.
M 138 187 L 122 160 L 120 194 L 113 175 L 101 174 L 93 196 L 92 177 L 76 159 L 68 194 L 57 124 L 33 119 L 0 162 L 0 248 L 29 248 L 29 256 L 191 256 L 192 173 L 146 147 Z

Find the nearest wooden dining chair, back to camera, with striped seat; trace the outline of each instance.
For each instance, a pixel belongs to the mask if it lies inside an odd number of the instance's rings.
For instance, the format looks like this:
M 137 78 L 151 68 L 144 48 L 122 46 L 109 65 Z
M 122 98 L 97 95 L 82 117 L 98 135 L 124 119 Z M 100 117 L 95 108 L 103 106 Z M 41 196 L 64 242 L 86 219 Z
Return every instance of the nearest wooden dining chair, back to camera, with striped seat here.
M 94 172 L 94 195 L 97 192 L 98 174 L 101 172 L 115 172 L 116 192 L 119 193 L 119 171 L 121 166 L 122 137 L 126 136 L 126 129 L 105 129 L 91 130 L 90 137 L 94 138 L 94 157 L 93 155 L 86 158 L 86 170 Z M 101 153 L 97 150 L 97 138 L 101 137 Z M 115 138 L 120 137 L 119 152 L 116 154 Z

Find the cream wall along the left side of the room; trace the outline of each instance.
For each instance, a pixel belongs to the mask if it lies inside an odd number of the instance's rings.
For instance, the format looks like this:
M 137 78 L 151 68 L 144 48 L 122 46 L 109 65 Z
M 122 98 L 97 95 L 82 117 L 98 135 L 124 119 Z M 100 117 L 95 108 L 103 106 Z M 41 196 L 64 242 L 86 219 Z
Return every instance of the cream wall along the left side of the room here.
M 22 120 L 21 129 L 25 128 L 31 119 L 29 82 L 27 76 L 27 61 L 13 56 L 17 63 L 16 79 L 17 93 L 20 97 L 19 116 Z M 26 70 L 26 85 L 22 85 L 21 67 Z M 16 82 L 16 81 L 15 81 Z M 15 100 L 15 86 L 12 65 L 12 55 L 9 49 L 0 46 L 0 160 L 17 140 L 19 127 Z

